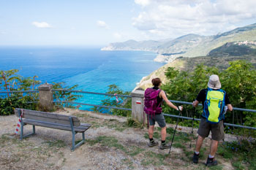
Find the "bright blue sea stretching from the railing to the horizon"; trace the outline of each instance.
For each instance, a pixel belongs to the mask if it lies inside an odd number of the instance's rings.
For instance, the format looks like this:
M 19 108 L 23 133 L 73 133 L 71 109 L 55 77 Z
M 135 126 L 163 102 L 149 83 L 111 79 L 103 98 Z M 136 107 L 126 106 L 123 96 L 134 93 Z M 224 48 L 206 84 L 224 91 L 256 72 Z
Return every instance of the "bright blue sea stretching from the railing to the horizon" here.
M 116 84 L 131 91 L 142 77 L 163 66 L 156 53 L 101 51 L 82 47 L 0 47 L 0 70 L 19 69 L 23 77 L 42 82 L 66 82 L 78 90 L 105 93 Z

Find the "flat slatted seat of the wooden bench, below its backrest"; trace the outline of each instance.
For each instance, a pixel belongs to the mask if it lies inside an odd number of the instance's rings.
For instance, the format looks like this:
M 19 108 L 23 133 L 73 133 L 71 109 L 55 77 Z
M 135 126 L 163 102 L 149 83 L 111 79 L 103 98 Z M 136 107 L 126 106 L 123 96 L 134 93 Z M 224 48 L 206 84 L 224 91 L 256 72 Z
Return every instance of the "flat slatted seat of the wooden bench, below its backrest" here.
M 56 128 L 56 129 L 61 129 L 64 131 L 72 131 L 70 125 L 61 125 L 58 123 L 46 123 L 46 122 L 42 122 L 39 120 L 30 120 L 30 119 L 24 119 L 23 123 L 29 124 L 29 125 L 39 125 L 45 128 Z M 88 128 L 90 128 L 91 125 L 90 124 L 86 124 L 84 125 L 80 125 L 80 126 L 74 126 L 74 130 L 76 132 L 83 132 L 86 131 Z

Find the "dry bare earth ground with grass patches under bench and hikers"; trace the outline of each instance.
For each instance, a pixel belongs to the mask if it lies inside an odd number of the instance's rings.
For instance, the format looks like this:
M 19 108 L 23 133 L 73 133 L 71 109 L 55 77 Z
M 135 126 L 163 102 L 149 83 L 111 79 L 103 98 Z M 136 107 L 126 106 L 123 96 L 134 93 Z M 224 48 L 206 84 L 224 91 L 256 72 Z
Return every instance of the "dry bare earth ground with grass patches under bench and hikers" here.
M 18 117 L 1 116 L 0 169 L 206 169 L 204 163 L 210 139 L 203 144 L 200 163 L 194 164 L 190 142 L 176 141 L 168 155 L 169 150 L 148 147 L 146 128 L 128 127 L 126 117 L 76 109 L 58 112 L 75 115 L 81 122 L 91 123 L 91 128 L 86 131 L 85 144 L 72 152 L 71 132 L 39 126 L 36 127 L 36 135 L 20 141 L 14 133 Z M 31 125 L 26 125 L 24 133 L 29 131 Z M 156 131 L 159 138 L 159 129 Z M 178 131 L 191 130 L 178 127 Z M 77 134 L 76 140 L 80 139 L 81 134 Z M 192 147 L 195 147 L 195 140 Z M 233 169 L 228 160 L 221 156 L 217 159 L 219 166 L 214 169 Z

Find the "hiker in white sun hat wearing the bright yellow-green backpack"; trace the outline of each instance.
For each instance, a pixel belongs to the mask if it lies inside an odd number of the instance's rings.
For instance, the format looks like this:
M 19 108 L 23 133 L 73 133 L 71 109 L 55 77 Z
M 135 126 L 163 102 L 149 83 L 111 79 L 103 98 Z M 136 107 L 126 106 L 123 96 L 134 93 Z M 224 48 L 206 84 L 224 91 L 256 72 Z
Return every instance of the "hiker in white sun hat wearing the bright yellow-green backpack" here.
M 195 146 L 195 152 L 193 155 L 193 163 L 198 163 L 200 148 L 203 144 L 203 139 L 208 137 L 209 132 L 211 131 L 211 149 L 210 149 L 210 154 L 208 155 L 208 159 L 206 161 L 206 166 L 216 166 L 218 164 L 217 160 L 214 158 L 214 155 L 217 152 L 219 141 L 224 139 L 223 113 L 225 113 L 225 111 L 222 111 L 222 109 L 220 109 L 221 111 L 218 112 L 219 115 L 217 116 L 219 117 L 217 117 L 217 120 L 216 119 L 210 120 L 209 117 L 211 112 L 213 111 L 211 111 L 210 114 L 208 112 L 208 115 L 206 114 L 205 107 L 207 107 L 208 109 L 208 103 L 206 103 L 205 105 L 205 101 L 208 102 L 211 100 L 211 98 L 209 99 L 209 97 L 207 97 L 209 91 L 213 91 L 213 92 L 220 91 L 221 93 L 224 94 L 222 98 L 224 100 L 227 110 L 232 111 L 233 107 L 230 104 L 230 100 L 227 96 L 227 93 L 224 90 L 220 90 L 221 87 L 222 86 L 221 86 L 221 83 L 219 82 L 219 77 L 216 74 L 211 75 L 208 80 L 208 88 L 200 90 L 200 93 L 197 95 L 196 100 L 192 104 L 193 107 L 197 107 L 199 102 L 202 102 L 203 104 L 203 115 L 201 117 L 200 125 L 197 131 L 198 137 L 197 137 L 197 142 Z M 211 122 L 211 121 L 216 121 L 216 122 Z

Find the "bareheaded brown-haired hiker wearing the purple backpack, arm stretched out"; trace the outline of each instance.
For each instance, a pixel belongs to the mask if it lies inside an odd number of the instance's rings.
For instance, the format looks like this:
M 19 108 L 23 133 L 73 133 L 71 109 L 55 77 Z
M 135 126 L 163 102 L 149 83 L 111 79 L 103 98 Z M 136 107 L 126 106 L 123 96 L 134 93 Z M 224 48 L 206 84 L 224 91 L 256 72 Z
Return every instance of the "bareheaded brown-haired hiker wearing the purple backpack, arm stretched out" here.
M 174 104 L 172 104 L 166 94 L 165 91 L 159 89 L 161 86 L 162 81 L 159 78 L 155 78 L 152 80 L 152 85 L 154 85 L 154 87 L 152 89 L 154 90 L 159 90 L 158 96 L 157 96 L 157 106 L 159 106 L 162 111 L 162 102 L 165 101 L 166 104 L 169 107 L 172 107 L 173 109 L 180 109 L 182 110 L 183 107 L 179 106 L 176 107 Z M 158 108 L 159 108 L 158 107 Z M 155 110 L 156 111 L 156 110 Z M 159 146 L 159 149 L 164 150 L 164 149 L 168 149 L 170 147 L 170 144 L 166 144 L 165 143 L 165 138 L 166 138 L 166 123 L 165 123 L 165 117 L 162 114 L 162 112 L 156 111 L 154 112 L 154 115 L 148 115 L 148 122 L 149 122 L 149 128 L 148 128 L 148 136 L 149 136 L 149 142 L 148 142 L 148 146 L 149 147 L 154 147 L 156 145 L 158 145 L 158 142 L 154 141 L 153 139 L 153 134 L 154 134 L 154 125 L 155 122 L 157 121 L 158 125 L 162 128 L 161 129 L 161 145 Z

